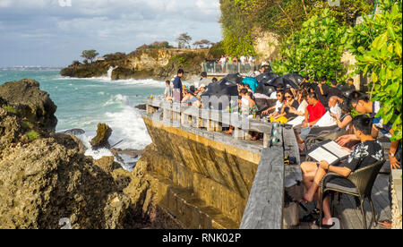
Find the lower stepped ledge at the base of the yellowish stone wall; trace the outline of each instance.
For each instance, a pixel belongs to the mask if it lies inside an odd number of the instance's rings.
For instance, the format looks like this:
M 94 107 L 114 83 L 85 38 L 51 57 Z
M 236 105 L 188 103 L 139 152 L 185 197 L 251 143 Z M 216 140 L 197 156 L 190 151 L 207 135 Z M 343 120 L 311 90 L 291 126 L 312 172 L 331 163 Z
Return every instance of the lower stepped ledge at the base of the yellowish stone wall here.
M 159 191 L 159 207 L 188 229 L 238 229 L 239 224 L 219 209 L 206 205 L 192 191 L 180 188 L 167 177 L 151 174 Z

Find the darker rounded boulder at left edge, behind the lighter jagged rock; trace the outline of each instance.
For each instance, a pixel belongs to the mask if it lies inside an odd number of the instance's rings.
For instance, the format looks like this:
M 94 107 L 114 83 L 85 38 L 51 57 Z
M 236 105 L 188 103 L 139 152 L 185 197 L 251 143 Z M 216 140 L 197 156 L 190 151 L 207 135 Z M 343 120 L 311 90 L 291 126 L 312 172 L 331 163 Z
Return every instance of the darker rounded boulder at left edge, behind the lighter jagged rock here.
M 6 82 L 0 86 L 0 97 L 13 106 L 28 121 L 38 124 L 39 128 L 54 132 L 57 106 L 47 92 L 39 89 L 39 82 L 23 79 Z

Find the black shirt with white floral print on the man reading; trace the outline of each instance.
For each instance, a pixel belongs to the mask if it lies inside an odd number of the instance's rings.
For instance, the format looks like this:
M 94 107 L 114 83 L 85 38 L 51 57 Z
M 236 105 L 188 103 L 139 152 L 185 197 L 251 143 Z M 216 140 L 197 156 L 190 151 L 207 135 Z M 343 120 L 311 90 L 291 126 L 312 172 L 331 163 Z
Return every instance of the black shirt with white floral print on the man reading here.
M 382 144 L 379 141 L 364 141 L 354 147 L 348 156 L 346 166 L 352 172 L 357 169 L 371 166 L 384 158 Z

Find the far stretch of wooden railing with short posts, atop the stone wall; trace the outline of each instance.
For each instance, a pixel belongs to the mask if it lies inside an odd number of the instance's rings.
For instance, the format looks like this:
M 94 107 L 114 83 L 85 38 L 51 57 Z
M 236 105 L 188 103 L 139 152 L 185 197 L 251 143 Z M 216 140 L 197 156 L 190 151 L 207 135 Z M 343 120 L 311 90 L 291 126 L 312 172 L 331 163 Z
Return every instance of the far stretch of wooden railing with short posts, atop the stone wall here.
M 261 132 L 263 147 L 269 147 L 272 124 L 239 115 L 237 112 L 186 106 L 160 98 L 148 98 L 146 111 L 148 114 L 155 114 L 155 117 L 161 117 L 164 124 L 172 124 L 173 127 L 206 128 L 210 132 L 222 132 L 224 127 L 234 126 L 234 138 L 237 140 L 252 140 L 252 132 Z

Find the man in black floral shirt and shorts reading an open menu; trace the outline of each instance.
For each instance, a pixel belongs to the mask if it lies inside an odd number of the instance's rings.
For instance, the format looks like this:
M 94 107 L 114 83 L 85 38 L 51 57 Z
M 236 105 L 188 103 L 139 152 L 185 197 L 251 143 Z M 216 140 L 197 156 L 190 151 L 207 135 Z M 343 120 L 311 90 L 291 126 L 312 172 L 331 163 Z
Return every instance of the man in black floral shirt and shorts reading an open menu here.
M 320 200 L 320 183 L 336 183 L 343 187 L 355 188 L 353 183 L 348 182 L 346 179 L 339 178 L 337 176 L 330 176 L 326 181 L 322 182 L 323 176 L 327 173 L 335 173 L 347 177 L 357 169 L 371 166 L 374 163 L 381 161 L 384 158 L 383 148 L 379 141 L 375 141 L 371 136 L 372 131 L 372 119 L 367 115 L 359 115 L 353 119 L 353 129 L 356 139 L 360 141 L 353 150 L 346 149 L 350 152 L 350 156 L 347 158 L 347 162 L 331 166 L 326 161 L 321 162 L 304 162 L 301 164 L 301 170 L 303 173 L 303 183 L 305 193 L 303 200 L 311 202 L 314 199 L 319 206 Z M 330 196 L 327 196 L 323 200 L 323 213 L 322 227 L 330 228 L 335 225 L 332 221 L 330 211 Z M 305 219 L 313 219 L 313 224 L 319 226 L 317 221 L 318 209 L 314 209 L 313 212 L 304 217 Z

